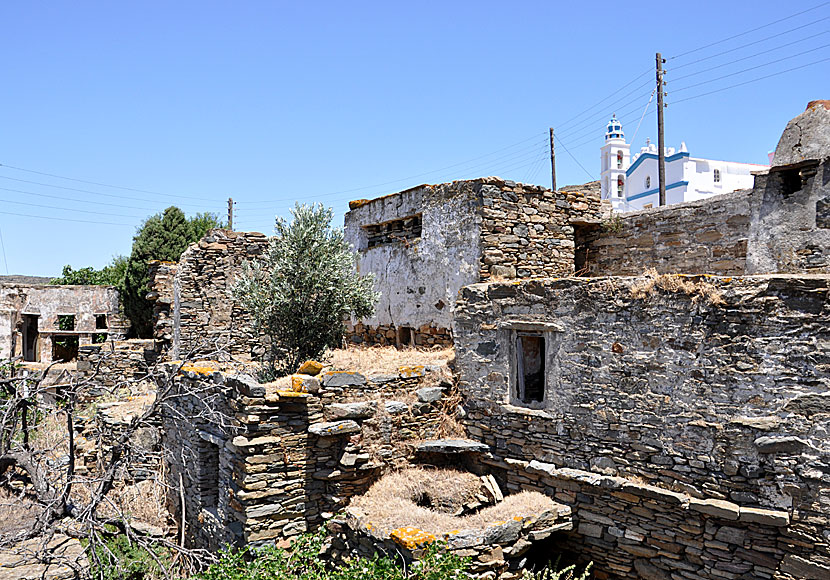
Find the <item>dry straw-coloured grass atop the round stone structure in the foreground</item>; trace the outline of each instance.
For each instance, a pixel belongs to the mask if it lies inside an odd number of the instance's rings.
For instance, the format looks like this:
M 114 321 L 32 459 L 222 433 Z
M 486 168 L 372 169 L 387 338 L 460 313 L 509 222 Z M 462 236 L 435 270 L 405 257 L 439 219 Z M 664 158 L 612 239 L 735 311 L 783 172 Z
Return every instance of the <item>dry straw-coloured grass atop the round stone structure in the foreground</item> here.
M 457 530 L 484 528 L 516 516 L 536 516 L 554 507 L 538 492 L 522 492 L 467 516 L 454 516 L 464 503 L 475 501 L 481 480 L 471 473 L 449 469 L 412 468 L 385 475 L 351 505 L 366 515 L 367 522 L 389 533 L 415 527 L 439 536 Z M 428 497 L 432 508 L 418 505 Z

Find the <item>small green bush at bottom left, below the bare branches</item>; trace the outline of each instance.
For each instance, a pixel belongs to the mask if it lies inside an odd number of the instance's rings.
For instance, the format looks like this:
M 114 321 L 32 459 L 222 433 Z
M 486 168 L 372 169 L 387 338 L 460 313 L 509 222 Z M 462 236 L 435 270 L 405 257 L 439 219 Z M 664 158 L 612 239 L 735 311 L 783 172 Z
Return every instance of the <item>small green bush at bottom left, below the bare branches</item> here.
M 106 544 L 95 546 L 95 555 L 90 557 L 90 573 L 98 580 L 160 580 L 166 578 L 164 568 L 170 568 L 171 554 L 162 547 L 154 548 L 154 555 L 124 534 L 112 536 Z

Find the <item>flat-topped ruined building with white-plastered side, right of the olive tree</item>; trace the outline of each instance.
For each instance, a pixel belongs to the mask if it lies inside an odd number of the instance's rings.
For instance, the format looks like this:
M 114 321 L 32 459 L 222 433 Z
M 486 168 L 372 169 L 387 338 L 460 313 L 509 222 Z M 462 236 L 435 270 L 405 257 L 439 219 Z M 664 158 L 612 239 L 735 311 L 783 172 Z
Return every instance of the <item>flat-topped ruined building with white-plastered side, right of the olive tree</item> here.
M 375 315 L 352 321 L 360 344 L 452 342 L 458 291 L 498 278 L 574 273 L 574 228 L 600 221 L 599 199 L 487 177 L 353 201 L 346 240 L 375 276 Z

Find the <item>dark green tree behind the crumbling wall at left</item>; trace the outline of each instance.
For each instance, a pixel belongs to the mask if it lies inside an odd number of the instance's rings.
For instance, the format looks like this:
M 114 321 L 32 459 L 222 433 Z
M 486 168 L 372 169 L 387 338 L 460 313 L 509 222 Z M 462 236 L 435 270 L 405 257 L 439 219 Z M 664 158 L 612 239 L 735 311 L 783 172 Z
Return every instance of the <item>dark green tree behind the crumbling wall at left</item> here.
M 133 237 L 132 252 L 119 287 L 124 315 L 130 319 L 135 335 L 148 338 L 153 331 L 153 307 L 146 299 L 148 262 L 178 261 L 187 246 L 198 241 L 209 229 L 218 227 L 222 227 L 222 223 L 214 214 L 196 214 L 188 220 L 184 212 L 174 206 L 144 220 Z

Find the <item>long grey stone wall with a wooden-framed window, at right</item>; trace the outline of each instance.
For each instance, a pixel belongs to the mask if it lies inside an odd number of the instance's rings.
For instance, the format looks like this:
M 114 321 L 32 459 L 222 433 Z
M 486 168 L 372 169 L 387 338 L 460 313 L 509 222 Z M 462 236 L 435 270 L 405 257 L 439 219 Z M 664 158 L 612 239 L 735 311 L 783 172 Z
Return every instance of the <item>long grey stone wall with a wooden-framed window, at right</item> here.
M 745 559 L 776 558 L 779 578 L 827 577 L 828 283 L 827 276 L 666 275 L 464 288 L 454 330 L 468 433 L 505 469 L 536 459 L 741 509 L 785 511 L 791 523 L 776 532 L 776 551 L 758 547 Z M 540 401 L 517 392 L 522 334 L 544 339 Z M 624 515 L 615 517 L 644 536 L 635 543 L 651 554 L 657 544 L 638 530 L 655 529 L 654 511 L 617 500 L 603 499 L 616 502 Z M 591 501 L 578 494 L 576 507 Z M 603 538 L 622 529 L 602 521 Z M 712 542 L 720 540 L 705 537 L 708 524 L 702 529 L 698 540 L 717 549 Z M 587 540 L 582 548 L 598 561 L 607 550 Z M 739 575 L 722 567 L 734 559 L 731 548 L 714 569 L 696 563 L 693 547 L 671 550 L 654 565 L 673 578 Z M 626 566 L 640 557 L 617 556 Z M 811 571 L 787 572 L 802 560 Z

